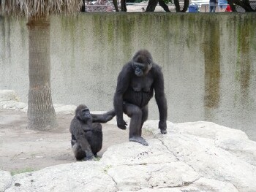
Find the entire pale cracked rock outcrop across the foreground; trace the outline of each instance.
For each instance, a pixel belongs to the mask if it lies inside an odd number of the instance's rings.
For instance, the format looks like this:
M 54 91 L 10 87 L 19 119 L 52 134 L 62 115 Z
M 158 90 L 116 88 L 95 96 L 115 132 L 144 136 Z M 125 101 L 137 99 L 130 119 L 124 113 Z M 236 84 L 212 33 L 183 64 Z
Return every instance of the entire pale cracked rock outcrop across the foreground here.
M 0 177 L 1 190 L 256 191 L 256 142 L 244 132 L 210 122 L 168 122 L 162 135 L 157 126 L 145 123 L 155 136 L 149 146 L 125 142 L 109 147 L 100 161 Z

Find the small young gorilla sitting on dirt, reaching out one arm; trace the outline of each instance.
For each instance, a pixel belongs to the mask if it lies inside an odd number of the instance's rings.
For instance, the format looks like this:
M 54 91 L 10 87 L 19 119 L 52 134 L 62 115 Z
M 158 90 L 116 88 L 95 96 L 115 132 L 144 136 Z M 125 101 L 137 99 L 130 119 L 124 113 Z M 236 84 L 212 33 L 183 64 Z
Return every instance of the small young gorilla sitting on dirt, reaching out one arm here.
M 75 110 L 69 131 L 72 134 L 71 145 L 77 160 L 91 160 L 102 149 L 102 125 L 111 120 L 114 110 L 100 115 L 91 114 L 88 107 L 80 104 Z

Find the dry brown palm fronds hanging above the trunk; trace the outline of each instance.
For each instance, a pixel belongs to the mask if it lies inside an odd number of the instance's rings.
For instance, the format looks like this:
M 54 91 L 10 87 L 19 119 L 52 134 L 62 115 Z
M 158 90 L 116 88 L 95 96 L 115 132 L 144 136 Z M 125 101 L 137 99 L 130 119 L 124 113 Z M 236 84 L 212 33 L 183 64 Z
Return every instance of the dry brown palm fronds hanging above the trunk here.
M 0 14 L 31 16 L 66 14 L 80 11 L 82 0 L 0 0 Z

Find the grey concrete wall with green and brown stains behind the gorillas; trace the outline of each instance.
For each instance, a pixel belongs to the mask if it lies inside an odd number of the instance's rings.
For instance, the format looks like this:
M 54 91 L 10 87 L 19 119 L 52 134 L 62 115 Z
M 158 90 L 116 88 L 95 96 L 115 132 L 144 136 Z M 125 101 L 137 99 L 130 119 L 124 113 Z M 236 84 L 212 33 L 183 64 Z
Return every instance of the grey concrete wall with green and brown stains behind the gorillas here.
M 140 48 L 162 66 L 168 120 L 208 120 L 256 140 L 256 15 L 241 13 L 86 13 L 53 17 L 53 102 L 113 107 L 116 78 Z M 25 20 L 0 18 L 0 89 L 27 101 Z M 158 119 L 154 99 L 149 118 Z

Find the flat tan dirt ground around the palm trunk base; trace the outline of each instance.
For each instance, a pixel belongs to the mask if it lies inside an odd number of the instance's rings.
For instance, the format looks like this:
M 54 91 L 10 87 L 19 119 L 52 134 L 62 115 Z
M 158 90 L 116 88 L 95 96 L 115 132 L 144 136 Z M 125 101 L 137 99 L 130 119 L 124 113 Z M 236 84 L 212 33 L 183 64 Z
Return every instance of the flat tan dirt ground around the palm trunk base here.
M 35 171 L 56 164 L 75 162 L 70 146 L 69 123 L 73 115 L 57 115 L 59 127 L 52 131 L 26 128 L 26 112 L 0 109 L 0 169 L 12 173 Z M 128 142 L 128 130 L 102 124 L 103 146 L 98 155 L 111 145 Z M 143 133 L 146 139 L 152 137 Z

